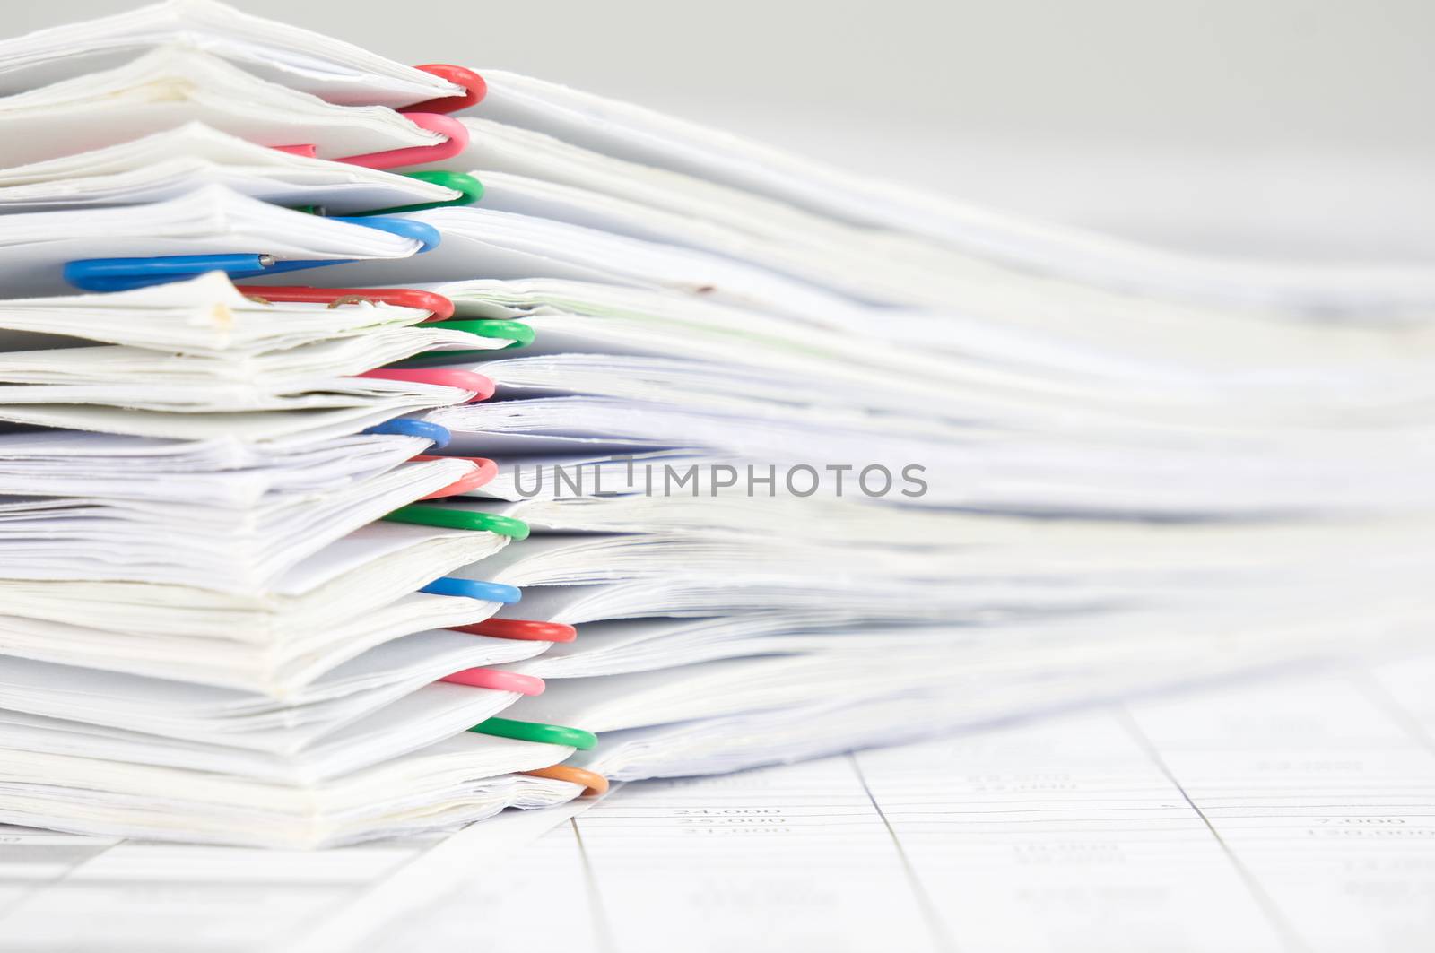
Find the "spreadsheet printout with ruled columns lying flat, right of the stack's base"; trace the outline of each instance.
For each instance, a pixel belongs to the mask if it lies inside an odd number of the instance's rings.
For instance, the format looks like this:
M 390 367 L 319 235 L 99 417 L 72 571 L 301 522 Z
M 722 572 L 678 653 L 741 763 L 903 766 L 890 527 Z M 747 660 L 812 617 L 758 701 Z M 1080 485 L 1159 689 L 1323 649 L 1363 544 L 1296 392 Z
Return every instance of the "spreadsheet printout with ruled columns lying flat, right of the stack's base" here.
M 1432 679 L 1290 675 L 629 785 L 367 949 L 1429 949 Z

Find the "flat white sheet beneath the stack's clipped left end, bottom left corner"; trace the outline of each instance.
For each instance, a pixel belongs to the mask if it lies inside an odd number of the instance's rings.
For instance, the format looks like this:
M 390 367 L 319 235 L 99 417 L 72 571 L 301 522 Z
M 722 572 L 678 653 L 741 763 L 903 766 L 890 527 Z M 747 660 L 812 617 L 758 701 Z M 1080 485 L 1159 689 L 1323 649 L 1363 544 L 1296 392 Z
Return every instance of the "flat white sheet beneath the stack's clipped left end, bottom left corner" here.
M 451 835 L 330 851 L 119 841 L 0 825 L 0 950 L 298 950 L 357 944 L 474 865 L 590 802 L 508 811 Z M 462 860 L 465 871 L 455 871 Z

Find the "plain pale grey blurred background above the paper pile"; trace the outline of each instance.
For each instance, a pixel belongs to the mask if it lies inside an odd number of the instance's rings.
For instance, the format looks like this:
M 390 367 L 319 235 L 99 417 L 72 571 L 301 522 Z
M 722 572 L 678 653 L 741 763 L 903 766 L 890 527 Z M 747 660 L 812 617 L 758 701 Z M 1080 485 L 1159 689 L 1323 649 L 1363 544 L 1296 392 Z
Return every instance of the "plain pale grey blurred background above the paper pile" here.
M 6 33 L 133 6 L 13 3 Z M 1023 215 L 1224 257 L 1435 260 L 1429 0 L 235 6 Z

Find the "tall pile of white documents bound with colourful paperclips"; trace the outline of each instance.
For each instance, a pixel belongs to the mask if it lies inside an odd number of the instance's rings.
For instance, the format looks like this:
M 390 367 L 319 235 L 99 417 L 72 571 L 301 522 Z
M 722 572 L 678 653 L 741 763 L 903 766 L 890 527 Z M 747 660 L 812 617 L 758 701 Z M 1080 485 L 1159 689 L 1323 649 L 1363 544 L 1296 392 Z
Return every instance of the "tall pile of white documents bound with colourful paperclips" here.
M 0 42 L 0 822 L 319 847 L 1435 620 L 1435 271 L 211 0 Z

